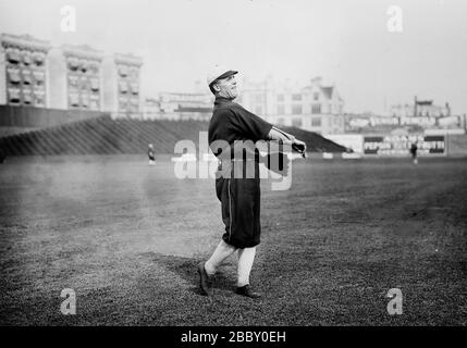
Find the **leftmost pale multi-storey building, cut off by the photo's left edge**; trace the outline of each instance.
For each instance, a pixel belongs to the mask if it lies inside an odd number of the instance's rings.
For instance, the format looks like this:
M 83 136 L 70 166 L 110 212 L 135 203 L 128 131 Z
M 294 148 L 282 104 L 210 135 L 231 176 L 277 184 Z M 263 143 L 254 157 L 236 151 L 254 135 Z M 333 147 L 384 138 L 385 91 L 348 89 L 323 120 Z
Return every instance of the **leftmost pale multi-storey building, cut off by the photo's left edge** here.
M 0 36 L 0 104 L 46 107 L 48 41 L 29 35 Z

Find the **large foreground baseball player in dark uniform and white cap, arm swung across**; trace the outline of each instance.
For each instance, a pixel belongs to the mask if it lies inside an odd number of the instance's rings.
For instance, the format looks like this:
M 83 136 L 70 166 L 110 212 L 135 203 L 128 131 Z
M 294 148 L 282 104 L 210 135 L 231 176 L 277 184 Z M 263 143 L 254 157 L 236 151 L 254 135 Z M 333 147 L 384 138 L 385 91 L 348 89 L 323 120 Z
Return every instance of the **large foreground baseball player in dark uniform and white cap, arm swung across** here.
M 305 154 L 304 141 L 273 127 L 272 124 L 233 101 L 237 97 L 236 74 L 236 71 L 217 65 L 207 79 L 211 92 L 216 96 L 213 113 L 209 123 L 209 146 L 221 160 L 220 167 L 224 170 L 225 165 L 233 166 L 232 161 L 236 161 L 236 159 L 232 159 L 232 152 L 217 149 L 213 146 L 217 140 L 224 140 L 230 146 L 233 146 L 236 140 L 251 140 L 253 142 L 280 140 Z M 254 165 L 256 174 L 253 178 L 237 177 L 238 173 L 229 177 L 216 178 L 216 194 L 221 201 L 225 233 L 212 256 L 206 262 L 198 264 L 200 289 L 204 295 L 211 295 L 211 276 L 226 258 L 237 251 L 236 294 L 249 298 L 261 297 L 249 285 L 249 274 L 261 233 L 258 157 L 255 158 Z

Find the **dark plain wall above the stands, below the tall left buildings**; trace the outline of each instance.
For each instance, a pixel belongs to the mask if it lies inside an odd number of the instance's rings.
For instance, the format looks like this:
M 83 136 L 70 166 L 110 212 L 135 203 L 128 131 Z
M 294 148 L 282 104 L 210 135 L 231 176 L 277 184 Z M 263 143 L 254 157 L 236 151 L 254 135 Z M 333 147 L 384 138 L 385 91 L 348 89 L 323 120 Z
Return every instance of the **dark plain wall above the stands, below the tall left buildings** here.
M 103 114 L 100 111 L 0 105 L 0 127 L 52 127 Z

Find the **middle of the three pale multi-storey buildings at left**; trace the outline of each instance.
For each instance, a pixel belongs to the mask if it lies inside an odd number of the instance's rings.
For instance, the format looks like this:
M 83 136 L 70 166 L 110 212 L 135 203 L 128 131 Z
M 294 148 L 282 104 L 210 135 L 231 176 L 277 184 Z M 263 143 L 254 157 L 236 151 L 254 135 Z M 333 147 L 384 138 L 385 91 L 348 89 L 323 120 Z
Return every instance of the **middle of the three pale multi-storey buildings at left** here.
M 102 110 L 103 53 L 89 46 L 64 45 L 48 57 L 49 107 L 70 110 Z

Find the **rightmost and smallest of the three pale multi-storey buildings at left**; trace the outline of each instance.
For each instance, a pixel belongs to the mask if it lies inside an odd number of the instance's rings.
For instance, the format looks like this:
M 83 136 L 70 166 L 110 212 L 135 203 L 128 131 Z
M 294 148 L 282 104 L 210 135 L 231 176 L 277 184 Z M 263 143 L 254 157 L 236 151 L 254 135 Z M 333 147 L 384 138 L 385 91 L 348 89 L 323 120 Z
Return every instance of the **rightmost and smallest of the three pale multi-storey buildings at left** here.
M 140 70 L 143 59 L 115 53 L 102 63 L 103 111 L 114 116 L 139 117 L 142 110 Z

